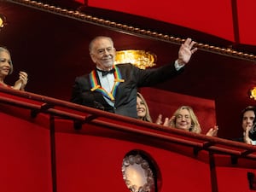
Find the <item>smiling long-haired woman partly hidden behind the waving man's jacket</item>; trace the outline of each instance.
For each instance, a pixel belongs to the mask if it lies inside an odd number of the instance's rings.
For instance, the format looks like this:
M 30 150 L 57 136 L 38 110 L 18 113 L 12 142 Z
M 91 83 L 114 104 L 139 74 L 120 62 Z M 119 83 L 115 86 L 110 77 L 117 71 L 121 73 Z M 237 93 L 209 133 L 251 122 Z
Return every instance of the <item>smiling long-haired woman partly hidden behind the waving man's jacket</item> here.
M 143 95 L 137 92 L 137 119 L 152 122 L 149 114 L 148 104 Z

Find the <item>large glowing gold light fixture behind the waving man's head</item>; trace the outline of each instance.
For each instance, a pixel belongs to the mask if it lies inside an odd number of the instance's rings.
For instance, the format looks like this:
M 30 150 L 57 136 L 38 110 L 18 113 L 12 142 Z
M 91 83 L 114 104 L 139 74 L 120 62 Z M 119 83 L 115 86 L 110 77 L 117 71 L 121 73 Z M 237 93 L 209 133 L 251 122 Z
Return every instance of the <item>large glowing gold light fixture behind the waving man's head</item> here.
M 141 69 L 145 69 L 154 67 L 156 58 L 156 55 L 145 50 L 119 50 L 116 51 L 114 64 L 131 63 Z

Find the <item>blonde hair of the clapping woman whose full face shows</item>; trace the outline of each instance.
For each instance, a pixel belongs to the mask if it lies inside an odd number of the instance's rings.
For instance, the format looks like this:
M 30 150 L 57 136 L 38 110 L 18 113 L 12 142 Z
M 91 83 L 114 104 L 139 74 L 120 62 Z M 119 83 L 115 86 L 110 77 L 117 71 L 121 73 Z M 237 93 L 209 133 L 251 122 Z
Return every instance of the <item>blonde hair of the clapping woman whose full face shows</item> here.
M 172 115 L 172 116 L 175 116 L 175 118 L 172 119 L 171 125 L 176 127 L 177 115 L 180 114 L 180 111 L 183 109 L 187 109 L 189 111 L 189 115 L 191 118 L 191 127 L 189 128 L 189 131 L 195 132 L 195 133 L 201 133 L 201 126 L 199 124 L 199 121 L 198 121 L 193 109 L 189 106 L 181 106 L 180 108 L 177 108 L 177 110 Z

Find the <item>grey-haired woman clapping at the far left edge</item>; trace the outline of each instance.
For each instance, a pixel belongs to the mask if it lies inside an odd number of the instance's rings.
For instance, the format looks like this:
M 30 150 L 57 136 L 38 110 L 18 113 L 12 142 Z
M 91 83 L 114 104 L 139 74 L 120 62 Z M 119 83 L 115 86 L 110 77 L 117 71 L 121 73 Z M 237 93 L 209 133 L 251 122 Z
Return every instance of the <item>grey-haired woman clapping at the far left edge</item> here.
M 19 79 L 15 82 L 14 86 L 10 86 L 4 83 L 4 79 L 9 74 L 13 73 L 14 67 L 11 61 L 9 50 L 0 47 L 0 86 L 6 86 L 13 88 L 15 90 L 25 90 L 27 83 L 27 74 L 25 72 L 20 72 Z

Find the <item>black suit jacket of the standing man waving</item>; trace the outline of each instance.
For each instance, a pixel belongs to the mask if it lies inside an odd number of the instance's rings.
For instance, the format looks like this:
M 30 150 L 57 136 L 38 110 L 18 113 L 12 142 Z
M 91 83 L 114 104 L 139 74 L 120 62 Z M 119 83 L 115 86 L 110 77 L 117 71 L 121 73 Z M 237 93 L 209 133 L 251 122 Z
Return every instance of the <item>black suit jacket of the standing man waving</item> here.
M 125 82 L 120 83 L 117 87 L 114 108 L 106 102 L 101 92 L 91 90 L 89 74 L 75 79 L 71 102 L 137 118 L 137 88 L 151 86 L 166 79 L 171 79 L 183 71 L 183 68 L 177 71 L 173 63 L 146 70 L 139 69 L 131 64 L 119 64 L 116 67 L 119 68 Z M 96 78 L 99 82 L 97 75 Z

